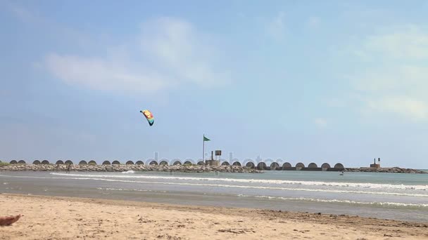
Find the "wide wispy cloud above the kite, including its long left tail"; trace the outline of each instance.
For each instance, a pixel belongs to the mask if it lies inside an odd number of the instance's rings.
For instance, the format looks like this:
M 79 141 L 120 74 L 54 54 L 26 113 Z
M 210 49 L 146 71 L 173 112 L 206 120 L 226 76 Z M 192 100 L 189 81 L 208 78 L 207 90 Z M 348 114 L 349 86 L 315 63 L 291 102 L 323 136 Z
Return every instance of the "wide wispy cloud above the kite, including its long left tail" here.
M 229 82 L 229 74 L 215 62 L 217 50 L 190 22 L 173 18 L 146 22 L 131 42 L 137 44 L 109 46 L 101 56 L 50 53 L 44 65 L 67 84 L 120 93 Z

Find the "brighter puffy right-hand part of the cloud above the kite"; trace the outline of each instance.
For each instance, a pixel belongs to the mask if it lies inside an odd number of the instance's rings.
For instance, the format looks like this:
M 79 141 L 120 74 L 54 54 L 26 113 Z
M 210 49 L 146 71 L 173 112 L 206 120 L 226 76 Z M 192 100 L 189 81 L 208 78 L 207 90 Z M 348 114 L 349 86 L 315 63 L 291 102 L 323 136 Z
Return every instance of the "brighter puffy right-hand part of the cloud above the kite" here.
M 177 77 L 200 86 L 226 84 L 226 72 L 216 72 L 209 59 L 215 50 L 206 45 L 208 38 L 196 32 L 189 22 L 161 18 L 143 25 L 141 46 L 162 66 L 169 67 Z

